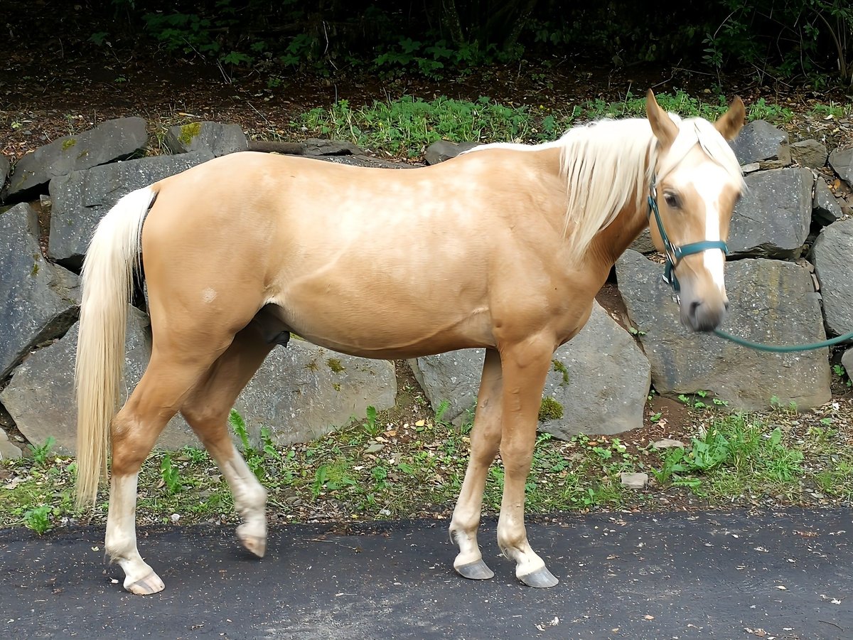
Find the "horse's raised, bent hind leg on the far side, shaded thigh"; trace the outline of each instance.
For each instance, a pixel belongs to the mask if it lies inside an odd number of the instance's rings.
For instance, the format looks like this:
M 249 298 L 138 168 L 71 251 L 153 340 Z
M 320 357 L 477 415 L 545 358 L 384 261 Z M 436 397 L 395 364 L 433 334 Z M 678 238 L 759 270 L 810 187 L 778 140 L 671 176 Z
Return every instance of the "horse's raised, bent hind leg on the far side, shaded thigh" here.
M 258 557 L 266 551 L 266 490 L 237 451 L 226 425 L 235 399 L 275 346 L 262 333 L 257 322 L 242 329 L 181 407 L 183 417 L 228 481 L 242 520 L 237 538 Z

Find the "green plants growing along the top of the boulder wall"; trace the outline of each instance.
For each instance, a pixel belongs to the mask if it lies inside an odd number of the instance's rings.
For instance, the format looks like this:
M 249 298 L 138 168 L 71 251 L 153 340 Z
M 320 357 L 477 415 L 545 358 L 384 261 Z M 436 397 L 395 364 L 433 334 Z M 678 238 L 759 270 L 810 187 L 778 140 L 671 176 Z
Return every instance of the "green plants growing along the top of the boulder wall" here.
M 675 94 L 660 93 L 656 99 L 667 111 L 684 117 L 716 119 L 728 108 L 725 96 L 703 100 L 676 91 Z M 438 140 L 538 143 L 554 140 L 580 122 L 643 117 L 645 113 L 645 96 L 630 92 L 617 102 L 596 99 L 560 108 L 505 105 L 488 97 L 467 102 L 446 97 L 424 101 L 403 96 L 360 107 L 341 100 L 329 108 L 302 113 L 291 126 L 300 133 L 308 131 L 310 135 L 348 140 L 375 153 L 416 157 L 427 145 Z M 749 120 L 769 119 L 777 123 L 787 122 L 793 116 L 791 109 L 770 104 L 763 98 L 748 105 L 746 113 Z

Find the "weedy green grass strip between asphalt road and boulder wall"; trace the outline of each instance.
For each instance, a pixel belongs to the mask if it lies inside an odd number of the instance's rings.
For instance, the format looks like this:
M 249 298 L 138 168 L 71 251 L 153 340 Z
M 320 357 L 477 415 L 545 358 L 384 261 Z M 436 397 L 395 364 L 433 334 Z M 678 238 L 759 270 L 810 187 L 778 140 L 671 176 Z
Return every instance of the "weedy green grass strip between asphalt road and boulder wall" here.
M 786 409 L 764 416 L 697 410 L 697 433 L 682 449 L 657 451 L 628 446 L 616 438 L 577 435 L 570 441 L 541 434 L 526 483 L 530 514 L 589 509 L 658 508 L 675 501 L 694 506 L 813 504 L 815 495 L 850 502 L 853 443 L 850 427 L 832 417 L 810 417 Z M 440 416 L 439 416 L 440 417 Z M 316 517 L 376 520 L 448 515 L 467 466 L 468 429 L 441 419 L 389 425 L 386 414 L 366 419 L 305 445 L 277 446 L 270 429 L 258 430 L 257 445 L 239 415 L 232 427 L 249 468 L 270 495 L 276 522 Z M 3 461 L 0 526 L 46 532 L 65 518 L 80 517 L 73 506 L 75 465 L 67 457 Z M 646 490 L 625 489 L 623 472 L 644 472 Z M 500 507 L 504 471 L 490 468 L 485 509 Z M 661 502 L 665 498 L 667 502 Z M 296 506 L 294 506 L 296 505 Z M 102 490 L 95 521 L 107 514 Z M 218 468 L 204 451 L 155 452 L 139 480 L 141 523 L 234 521 L 234 507 Z M 87 516 L 88 517 L 88 516 Z

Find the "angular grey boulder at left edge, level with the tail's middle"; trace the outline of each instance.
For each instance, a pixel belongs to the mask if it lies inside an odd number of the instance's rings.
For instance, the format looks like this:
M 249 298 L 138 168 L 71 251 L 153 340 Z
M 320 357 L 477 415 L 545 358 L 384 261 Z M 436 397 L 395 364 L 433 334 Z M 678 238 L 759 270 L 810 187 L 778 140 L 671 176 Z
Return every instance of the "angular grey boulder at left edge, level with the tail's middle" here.
M 73 273 L 44 259 L 38 218 L 26 203 L 0 213 L 0 381 L 36 346 L 77 320 Z

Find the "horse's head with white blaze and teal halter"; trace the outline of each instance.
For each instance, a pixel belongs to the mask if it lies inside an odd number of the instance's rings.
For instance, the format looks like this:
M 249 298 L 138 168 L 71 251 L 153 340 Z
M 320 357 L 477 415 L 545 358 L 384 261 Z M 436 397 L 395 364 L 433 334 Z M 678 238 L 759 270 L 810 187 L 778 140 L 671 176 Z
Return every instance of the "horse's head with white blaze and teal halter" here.
M 722 279 L 725 241 L 744 183 L 726 141 L 743 126 L 744 104 L 735 98 L 714 124 L 682 120 L 665 113 L 649 90 L 646 112 L 658 140 L 650 167 L 652 240 L 667 255 L 667 276 L 679 297 L 682 324 L 711 331 L 728 308 Z

